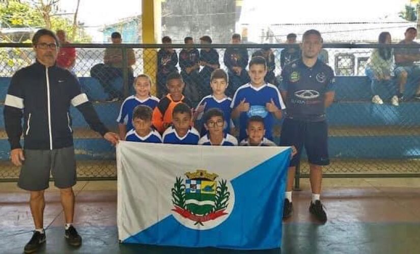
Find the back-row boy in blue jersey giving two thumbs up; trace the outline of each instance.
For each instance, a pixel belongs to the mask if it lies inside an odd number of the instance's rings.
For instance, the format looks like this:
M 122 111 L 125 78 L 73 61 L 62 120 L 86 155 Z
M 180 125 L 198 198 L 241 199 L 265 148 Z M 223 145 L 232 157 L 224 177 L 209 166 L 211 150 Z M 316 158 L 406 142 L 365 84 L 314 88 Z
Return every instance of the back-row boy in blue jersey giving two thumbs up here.
M 249 117 L 258 115 L 264 119 L 264 136 L 270 140 L 274 118 L 282 118 L 285 105 L 277 87 L 264 81 L 266 74 L 265 59 L 261 56 L 253 57 L 249 62 L 251 82 L 242 85 L 235 92 L 231 108 L 232 118 L 239 117 L 239 140 L 246 138 L 245 130 Z

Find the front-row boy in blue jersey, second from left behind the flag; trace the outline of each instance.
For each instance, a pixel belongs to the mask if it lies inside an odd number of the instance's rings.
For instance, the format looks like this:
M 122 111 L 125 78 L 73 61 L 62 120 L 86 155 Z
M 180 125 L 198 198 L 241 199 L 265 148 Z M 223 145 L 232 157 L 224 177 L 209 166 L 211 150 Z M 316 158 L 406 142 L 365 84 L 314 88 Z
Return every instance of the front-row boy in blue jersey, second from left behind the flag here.
M 179 103 L 172 112 L 172 126 L 163 133 L 163 143 L 197 145 L 200 134 L 191 126 L 192 112 L 185 103 Z

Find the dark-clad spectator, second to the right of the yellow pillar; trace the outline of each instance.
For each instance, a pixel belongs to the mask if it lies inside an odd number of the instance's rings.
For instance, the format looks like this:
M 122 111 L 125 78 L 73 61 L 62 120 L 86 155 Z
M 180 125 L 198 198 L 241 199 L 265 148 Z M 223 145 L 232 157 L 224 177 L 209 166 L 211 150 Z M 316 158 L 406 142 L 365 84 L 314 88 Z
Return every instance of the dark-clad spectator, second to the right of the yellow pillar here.
M 185 83 L 184 94 L 186 98 L 197 103 L 199 101 L 200 52 L 189 46 L 194 43 L 192 37 L 185 37 L 184 43 L 186 47 L 179 52 L 179 67 L 181 67 L 181 76 Z

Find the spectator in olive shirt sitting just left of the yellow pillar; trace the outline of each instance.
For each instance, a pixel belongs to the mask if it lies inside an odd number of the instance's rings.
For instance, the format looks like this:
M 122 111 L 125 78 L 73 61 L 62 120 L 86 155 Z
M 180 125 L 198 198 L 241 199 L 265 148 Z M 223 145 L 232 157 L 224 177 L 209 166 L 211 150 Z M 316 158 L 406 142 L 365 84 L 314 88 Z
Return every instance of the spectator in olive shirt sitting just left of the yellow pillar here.
M 111 34 L 113 44 L 121 44 L 121 34 L 114 32 Z M 107 48 L 103 57 L 104 63 L 98 63 L 91 69 L 91 77 L 97 78 L 105 92 L 109 94 L 106 101 L 115 102 L 124 98 L 123 92 L 113 86 L 113 81 L 123 76 L 123 72 L 127 71 L 128 83 L 132 84 L 133 69 L 135 56 L 133 49 L 127 49 L 127 70 L 123 70 L 123 53 L 121 48 Z

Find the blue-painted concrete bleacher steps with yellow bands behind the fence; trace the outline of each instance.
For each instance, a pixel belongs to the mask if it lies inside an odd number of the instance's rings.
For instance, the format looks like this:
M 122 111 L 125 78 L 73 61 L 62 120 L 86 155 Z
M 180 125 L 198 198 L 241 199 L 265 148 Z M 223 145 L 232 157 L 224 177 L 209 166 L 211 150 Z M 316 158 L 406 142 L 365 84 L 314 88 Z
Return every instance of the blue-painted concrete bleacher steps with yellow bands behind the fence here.
M 107 94 L 94 78 L 79 78 L 82 89 L 111 130 L 121 102 L 107 103 Z M 0 101 L 4 100 L 10 78 L 0 78 Z M 418 158 L 420 157 L 420 103 L 403 102 L 399 107 L 371 103 L 370 81 L 366 77 L 337 77 L 335 102 L 327 109 L 331 158 Z M 116 88 L 121 80 L 116 81 Z M 414 85 L 407 85 L 407 95 Z M 8 160 L 9 144 L 0 106 L 0 160 Z M 71 108 L 74 146 L 78 160 L 113 160 L 115 148 L 89 131 L 82 115 Z M 1 134 L 3 132 L 3 134 Z

